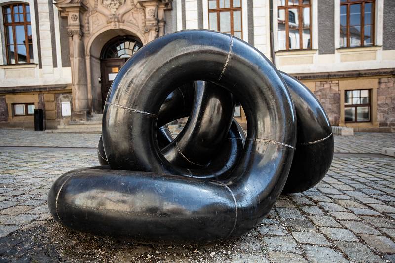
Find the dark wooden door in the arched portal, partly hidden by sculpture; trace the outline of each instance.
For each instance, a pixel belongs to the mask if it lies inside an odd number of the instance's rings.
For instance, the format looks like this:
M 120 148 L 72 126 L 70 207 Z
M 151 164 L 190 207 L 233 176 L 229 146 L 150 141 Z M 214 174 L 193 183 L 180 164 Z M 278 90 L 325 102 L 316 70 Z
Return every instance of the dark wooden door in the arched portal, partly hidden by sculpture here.
M 113 83 L 115 76 L 117 76 L 120 67 L 125 64 L 127 59 L 128 58 L 104 59 L 101 61 L 103 108 L 110 86 Z

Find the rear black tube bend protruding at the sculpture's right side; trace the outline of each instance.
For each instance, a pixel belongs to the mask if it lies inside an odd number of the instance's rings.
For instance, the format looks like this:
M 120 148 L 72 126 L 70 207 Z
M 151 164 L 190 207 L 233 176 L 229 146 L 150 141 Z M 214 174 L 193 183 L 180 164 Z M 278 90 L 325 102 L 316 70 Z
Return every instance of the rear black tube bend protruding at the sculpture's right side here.
M 281 72 L 296 110 L 297 144 L 283 193 L 303 192 L 315 186 L 329 170 L 333 134 L 329 118 L 313 93 L 296 78 Z

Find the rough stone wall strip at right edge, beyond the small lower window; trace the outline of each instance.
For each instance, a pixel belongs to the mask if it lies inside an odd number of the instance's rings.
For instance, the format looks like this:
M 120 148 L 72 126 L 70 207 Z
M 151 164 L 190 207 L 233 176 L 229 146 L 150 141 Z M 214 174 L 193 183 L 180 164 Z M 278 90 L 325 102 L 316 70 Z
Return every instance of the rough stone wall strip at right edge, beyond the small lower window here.
M 377 122 L 380 127 L 395 127 L 395 78 L 380 78 L 377 89 Z

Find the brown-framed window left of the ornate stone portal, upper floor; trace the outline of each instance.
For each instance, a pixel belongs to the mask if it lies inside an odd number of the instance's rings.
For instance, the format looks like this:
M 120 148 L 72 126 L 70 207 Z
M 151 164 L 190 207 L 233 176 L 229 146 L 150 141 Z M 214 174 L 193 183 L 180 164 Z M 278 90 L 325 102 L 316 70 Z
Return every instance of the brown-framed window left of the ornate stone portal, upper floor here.
M 28 4 L 3 7 L 7 64 L 33 63 L 32 27 Z

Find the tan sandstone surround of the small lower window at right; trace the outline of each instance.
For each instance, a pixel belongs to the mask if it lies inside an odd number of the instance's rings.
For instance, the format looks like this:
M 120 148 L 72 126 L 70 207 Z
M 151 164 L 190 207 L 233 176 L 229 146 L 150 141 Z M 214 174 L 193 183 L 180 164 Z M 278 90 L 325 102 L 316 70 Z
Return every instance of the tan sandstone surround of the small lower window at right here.
M 379 127 L 377 122 L 377 89 L 379 88 L 378 78 L 368 78 L 368 79 L 354 79 L 354 80 L 339 80 L 339 92 L 340 92 L 340 120 L 339 126 L 347 127 L 364 127 L 373 128 Z M 370 122 L 361 123 L 346 123 L 344 121 L 344 99 L 346 90 L 371 90 L 370 94 Z

